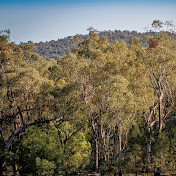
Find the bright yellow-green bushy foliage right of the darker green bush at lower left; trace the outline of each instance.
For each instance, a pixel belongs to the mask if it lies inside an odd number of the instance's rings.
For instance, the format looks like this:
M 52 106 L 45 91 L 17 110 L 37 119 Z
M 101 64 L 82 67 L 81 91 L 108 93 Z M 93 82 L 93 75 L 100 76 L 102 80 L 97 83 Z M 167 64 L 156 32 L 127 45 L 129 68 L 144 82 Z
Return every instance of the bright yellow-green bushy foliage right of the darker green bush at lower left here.
M 63 141 L 64 159 L 69 171 L 84 169 L 90 162 L 91 145 L 82 132 L 74 133 L 74 126 L 65 122 L 60 126 L 60 140 Z M 73 135 L 73 136 L 72 136 Z M 64 142 L 65 141 L 65 142 Z

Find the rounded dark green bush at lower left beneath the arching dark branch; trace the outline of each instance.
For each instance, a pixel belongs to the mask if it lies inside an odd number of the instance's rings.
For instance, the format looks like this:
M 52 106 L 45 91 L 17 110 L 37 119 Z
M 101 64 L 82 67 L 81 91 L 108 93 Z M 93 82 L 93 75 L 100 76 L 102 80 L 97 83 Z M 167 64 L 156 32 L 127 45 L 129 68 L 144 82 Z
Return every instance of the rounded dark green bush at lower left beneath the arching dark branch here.
M 57 130 L 50 125 L 31 127 L 23 135 L 20 145 L 20 174 L 53 175 L 62 162 L 62 150 Z M 26 163 L 28 163 L 26 165 Z

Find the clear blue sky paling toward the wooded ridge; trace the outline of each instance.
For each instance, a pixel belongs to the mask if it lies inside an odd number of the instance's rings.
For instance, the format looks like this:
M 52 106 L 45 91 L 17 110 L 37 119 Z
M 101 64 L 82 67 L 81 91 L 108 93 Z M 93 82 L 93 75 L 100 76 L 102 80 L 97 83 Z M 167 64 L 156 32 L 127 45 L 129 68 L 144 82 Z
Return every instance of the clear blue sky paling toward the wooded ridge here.
M 89 27 L 145 32 L 155 19 L 176 24 L 176 0 L 0 0 L 0 30 L 10 29 L 16 43 L 88 34 Z

